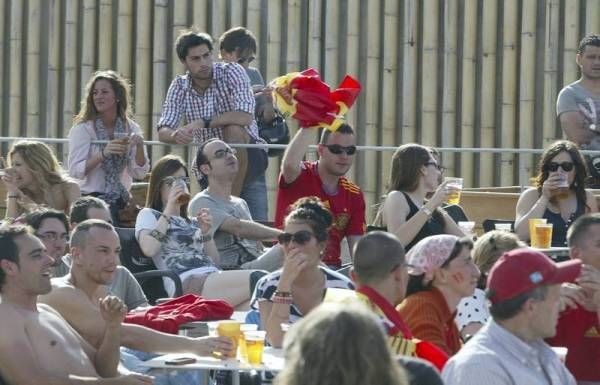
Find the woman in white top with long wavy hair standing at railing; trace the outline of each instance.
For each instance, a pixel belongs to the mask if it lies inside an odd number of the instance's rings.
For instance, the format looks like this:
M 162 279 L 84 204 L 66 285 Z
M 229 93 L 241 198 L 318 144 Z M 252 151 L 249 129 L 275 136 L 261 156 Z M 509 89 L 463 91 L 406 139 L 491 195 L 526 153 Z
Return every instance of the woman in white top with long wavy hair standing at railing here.
M 69 132 L 69 174 L 79 180 L 83 195 L 110 205 L 117 226 L 118 210 L 131 199 L 133 179 L 143 179 L 150 169 L 142 131 L 131 116 L 128 82 L 115 71 L 97 71 Z

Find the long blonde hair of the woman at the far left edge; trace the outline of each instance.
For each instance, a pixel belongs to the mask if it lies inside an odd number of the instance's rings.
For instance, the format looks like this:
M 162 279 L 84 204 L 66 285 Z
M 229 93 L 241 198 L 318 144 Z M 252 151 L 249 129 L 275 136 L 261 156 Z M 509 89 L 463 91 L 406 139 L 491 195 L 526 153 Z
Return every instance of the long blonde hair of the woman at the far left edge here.
M 43 189 L 69 181 L 54 152 L 45 143 L 35 140 L 20 140 L 14 143 L 8 153 L 8 163 L 11 167 L 15 154 L 23 158 L 23 162 Z

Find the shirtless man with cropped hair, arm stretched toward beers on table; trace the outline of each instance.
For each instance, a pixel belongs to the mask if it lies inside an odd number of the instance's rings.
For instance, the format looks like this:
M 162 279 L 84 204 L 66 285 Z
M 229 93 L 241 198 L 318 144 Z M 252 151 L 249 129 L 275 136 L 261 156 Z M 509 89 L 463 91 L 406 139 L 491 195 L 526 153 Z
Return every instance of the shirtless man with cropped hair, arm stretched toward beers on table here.
M 105 332 L 99 317 L 98 298 L 112 280 L 120 249 L 119 237 L 112 225 L 97 219 L 81 222 L 71 235 L 71 272 L 54 278 L 52 292 L 40 298 L 41 302 L 58 310 L 86 341 L 96 347 Z M 200 356 L 229 353 L 233 348 L 225 337 L 189 338 L 125 323 L 121 324 L 121 345 L 143 352 Z

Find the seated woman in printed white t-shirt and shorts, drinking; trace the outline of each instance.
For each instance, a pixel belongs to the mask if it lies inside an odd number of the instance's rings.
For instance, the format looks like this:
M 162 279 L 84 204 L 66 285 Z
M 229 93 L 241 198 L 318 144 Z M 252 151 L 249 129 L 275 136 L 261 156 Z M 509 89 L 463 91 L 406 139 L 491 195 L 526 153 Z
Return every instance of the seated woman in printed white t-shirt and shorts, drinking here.
M 158 160 L 150 174 L 146 208 L 136 220 L 140 248 L 157 268 L 179 275 L 184 293 L 223 299 L 234 308 L 247 309 L 253 270 L 221 271 L 216 267 L 219 253 L 209 232 L 209 210 L 200 209 L 196 218 L 187 217 L 188 182 L 180 157 L 166 155 Z M 173 283 L 164 283 L 171 294 Z

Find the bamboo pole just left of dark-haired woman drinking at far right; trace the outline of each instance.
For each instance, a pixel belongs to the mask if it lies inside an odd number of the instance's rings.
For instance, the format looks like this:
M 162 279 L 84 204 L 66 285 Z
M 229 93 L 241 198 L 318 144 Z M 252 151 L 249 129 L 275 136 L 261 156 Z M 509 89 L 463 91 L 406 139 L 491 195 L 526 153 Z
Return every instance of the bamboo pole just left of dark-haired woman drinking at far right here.
M 536 40 L 536 4 L 534 1 L 522 3 L 521 21 L 521 77 L 519 79 L 519 144 L 522 148 L 533 147 L 534 135 L 534 99 L 535 99 L 535 40 Z M 525 168 L 528 177 L 534 172 L 533 157 L 521 155 L 519 169 Z

